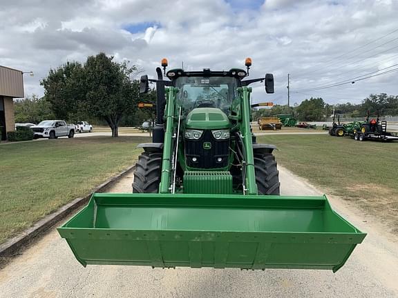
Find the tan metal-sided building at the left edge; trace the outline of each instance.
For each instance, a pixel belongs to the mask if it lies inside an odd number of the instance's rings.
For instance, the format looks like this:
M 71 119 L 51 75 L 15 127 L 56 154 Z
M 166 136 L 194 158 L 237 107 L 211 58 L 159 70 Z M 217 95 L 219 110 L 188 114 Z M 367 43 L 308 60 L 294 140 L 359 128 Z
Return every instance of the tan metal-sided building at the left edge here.
M 23 73 L 0 66 L 0 131 L 1 139 L 7 138 L 7 132 L 15 130 L 14 98 L 23 95 Z

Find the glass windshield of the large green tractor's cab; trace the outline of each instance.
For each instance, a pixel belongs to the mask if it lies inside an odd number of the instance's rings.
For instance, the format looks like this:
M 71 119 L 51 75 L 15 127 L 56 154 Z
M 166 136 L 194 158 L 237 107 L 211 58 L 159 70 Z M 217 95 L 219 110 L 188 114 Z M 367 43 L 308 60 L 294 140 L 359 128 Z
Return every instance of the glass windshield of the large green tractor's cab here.
M 177 99 L 184 112 L 194 108 L 220 108 L 227 115 L 236 97 L 236 79 L 233 77 L 179 77 Z

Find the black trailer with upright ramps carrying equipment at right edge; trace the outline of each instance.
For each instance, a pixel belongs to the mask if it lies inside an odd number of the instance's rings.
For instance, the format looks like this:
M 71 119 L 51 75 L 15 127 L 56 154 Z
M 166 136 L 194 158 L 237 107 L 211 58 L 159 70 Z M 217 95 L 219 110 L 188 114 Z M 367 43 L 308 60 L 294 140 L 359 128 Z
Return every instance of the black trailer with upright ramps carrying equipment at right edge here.
M 379 141 L 398 141 L 398 132 L 387 131 L 387 121 L 380 121 L 379 110 L 377 118 L 369 120 L 370 112 L 366 115 L 366 121 L 353 133 L 355 141 L 379 140 Z

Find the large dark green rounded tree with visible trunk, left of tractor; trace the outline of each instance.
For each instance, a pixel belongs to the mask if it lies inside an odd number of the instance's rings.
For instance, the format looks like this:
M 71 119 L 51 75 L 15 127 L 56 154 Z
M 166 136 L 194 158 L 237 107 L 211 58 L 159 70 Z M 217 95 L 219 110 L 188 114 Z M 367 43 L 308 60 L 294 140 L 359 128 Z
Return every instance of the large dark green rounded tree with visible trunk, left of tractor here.
M 57 117 L 69 119 L 83 112 L 106 121 L 112 137 L 118 137 L 122 117 L 137 109 L 139 83 L 131 77 L 138 72 L 129 62 L 113 61 L 101 52 L 83 66 L 73 62 L 50 70 L 41 84 Z

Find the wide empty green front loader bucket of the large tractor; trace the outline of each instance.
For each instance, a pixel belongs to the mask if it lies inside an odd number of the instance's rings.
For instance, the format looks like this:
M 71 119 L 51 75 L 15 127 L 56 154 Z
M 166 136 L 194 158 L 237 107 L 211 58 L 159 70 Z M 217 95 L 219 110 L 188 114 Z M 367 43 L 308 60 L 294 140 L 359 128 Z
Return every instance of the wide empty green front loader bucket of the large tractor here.
M 366 236 L 325 196 L 98 193 L 58 231 L 83 266 L 333 271 Z

